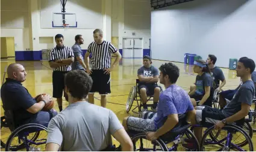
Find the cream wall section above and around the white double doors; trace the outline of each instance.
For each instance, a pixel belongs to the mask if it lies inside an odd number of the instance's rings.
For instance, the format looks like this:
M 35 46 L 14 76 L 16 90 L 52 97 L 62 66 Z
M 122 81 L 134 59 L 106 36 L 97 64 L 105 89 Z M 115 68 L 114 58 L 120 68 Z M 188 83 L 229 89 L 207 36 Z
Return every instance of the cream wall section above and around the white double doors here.
M 151 38 L 151 4 L 148 0 L 112 0 L 112 37 L 143 38 L 143 48 L 149 48 Z M 136 35 L 132 35 L 132 33 Z

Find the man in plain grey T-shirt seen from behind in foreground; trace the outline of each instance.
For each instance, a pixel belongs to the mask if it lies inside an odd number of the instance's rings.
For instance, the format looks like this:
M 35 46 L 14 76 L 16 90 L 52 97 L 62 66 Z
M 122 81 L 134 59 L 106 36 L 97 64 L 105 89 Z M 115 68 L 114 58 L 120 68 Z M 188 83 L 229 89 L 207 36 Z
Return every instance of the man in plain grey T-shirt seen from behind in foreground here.
M 114 151 L 111 135 L 123 151 L 133 151 L 133 142 L 113 111 L 86 101 L 92 83 L 85 71 L 66 74 L 69 106 L 50 121 L 46 151 Z

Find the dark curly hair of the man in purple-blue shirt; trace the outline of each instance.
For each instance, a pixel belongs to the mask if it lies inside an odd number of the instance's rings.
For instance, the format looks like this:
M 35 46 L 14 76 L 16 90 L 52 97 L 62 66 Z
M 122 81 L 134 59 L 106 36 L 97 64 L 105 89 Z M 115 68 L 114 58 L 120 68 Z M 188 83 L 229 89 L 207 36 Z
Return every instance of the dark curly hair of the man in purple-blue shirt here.
M 161 65 L 159 70 L 163 73 L 163 75 L 168 75 L 170 83 L 176 83 L 178 77 L 180 76 L 180 69 L 175 64 L 169 62 Z

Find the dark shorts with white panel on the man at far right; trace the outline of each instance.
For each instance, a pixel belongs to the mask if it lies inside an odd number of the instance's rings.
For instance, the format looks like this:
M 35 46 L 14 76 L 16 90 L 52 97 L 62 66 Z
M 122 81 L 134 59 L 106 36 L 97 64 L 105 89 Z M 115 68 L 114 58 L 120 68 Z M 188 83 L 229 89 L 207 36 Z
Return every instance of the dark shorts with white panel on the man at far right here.
M 222 113 L 222 110 L 219 110 L 217 108 L 211 108 L 208 106 L 196 107 L 196 121 L 198 123 L 206 122 L 216 124 L 224 118 L 226 118 L 226 116 Z

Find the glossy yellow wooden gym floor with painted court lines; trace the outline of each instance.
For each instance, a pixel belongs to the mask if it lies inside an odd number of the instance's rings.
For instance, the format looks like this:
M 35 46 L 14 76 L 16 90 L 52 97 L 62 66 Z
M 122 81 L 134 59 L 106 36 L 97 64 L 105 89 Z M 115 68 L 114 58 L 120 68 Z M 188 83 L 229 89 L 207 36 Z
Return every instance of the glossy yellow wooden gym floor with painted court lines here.
M 114 59 L 112 59 L 113 61 Z M 1 60 L 1 86 L 2 79 L 4 77 L 4 70 L 7 65 L 15 62 L 14 59 L 2 59 Z M 161 64 L 166 61 L 152 60 L 152 65 L 159 68 Z M 27 71 L 27 80 L 23 82 L 23 86 L 28 89 L 32 96 L 39 95 L 40 93 L 48 93 L 52 95 L 52 71 L 49 68 L 48 61 L 24 61 L 17 62 L 22 64 Z M 189 92 L 189 87 L 195 82 L 196 75 L 193 74 L 193 68 L 184 65 L 184 63 L 175 63 L 180 68 L 180 77 L 176 84 Z M 122 123 L 123 117 L 128 115 L 136 115 L 130 111 L 126 113 L 126 101 L 130 93 L 132 86 L 136 85 L 137 69 L 142 66 L 142 59 L 122 59 L 119 66 L 114 68 L 111 72 L 111 94 L 107 96 L 107 108 L 114 111 L 120 122 Z M 236 71 L 229 71 L 229 69 L 223 69 L 222 71 L 226 78 L 226 85 L 223 90 L 235 89 L 239 83 L 240 78 L 236 77 Z M 7 74 L 5 75 L 5 78 Z M 160 84 L 163 86 L 162 84 Z M 95 94 L 95 104 L 100 105 L 100 96 Z M 55 100 L 55 99 L 54 99 Z M 64 100 L 64 98 L 63 98 Z M 136 102 L 134 102 L 134 105 Z M 66 108 L 68 102 L 63 101 L 63 108 Z M 55 100 L 55 110 L 58 111 L 57 101 Z M 133 108 L 132 108 L 133 109 Z M 1 102 L 1 116 L 4 115 Z M 254 124 L 254 128 L 256 125 Z M 1 136 L 1 139 L 8 138 L 8 135 Z M 252 139 L 254 142 L 254 148 L 256 147 L 256 135 Z M 116 143 L 114 141 L 114 143 Z M 119 145 L 119 144 L 117 144 Z M 3 149 L 1 149 L 2 151 Z

